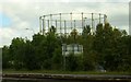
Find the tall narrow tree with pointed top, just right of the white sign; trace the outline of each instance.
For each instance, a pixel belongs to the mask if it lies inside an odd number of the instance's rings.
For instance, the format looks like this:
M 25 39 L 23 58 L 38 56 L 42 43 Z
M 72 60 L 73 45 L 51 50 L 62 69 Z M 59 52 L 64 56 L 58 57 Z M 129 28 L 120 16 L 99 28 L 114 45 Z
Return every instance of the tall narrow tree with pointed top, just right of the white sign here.
M 83 49 L 83 70 L 94 70 L 96 63 L 96 54 L 93 50 L 94 35 L 91 35 L 91 27 L 86 25 L 82 33 Z

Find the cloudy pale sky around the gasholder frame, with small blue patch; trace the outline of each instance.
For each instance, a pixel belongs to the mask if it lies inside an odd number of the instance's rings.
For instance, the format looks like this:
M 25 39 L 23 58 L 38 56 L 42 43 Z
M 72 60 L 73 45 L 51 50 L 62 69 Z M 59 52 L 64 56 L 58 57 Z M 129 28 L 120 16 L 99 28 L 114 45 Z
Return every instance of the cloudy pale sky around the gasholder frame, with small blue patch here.
M 3 0 L 0 2 L 0 47 L 10 45 L 13 37 L 31 38 L 39 31 L 40 15 L 60 12 L 104 13 L 111 25 L 129 32 L 129 1 Z

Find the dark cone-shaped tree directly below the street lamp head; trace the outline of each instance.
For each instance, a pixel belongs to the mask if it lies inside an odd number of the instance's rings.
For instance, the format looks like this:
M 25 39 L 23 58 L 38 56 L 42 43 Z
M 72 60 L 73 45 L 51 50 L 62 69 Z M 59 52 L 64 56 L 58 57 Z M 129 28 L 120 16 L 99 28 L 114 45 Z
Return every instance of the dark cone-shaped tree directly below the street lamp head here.
M 35 55 L 35 49 L 29 40 L 26 40 L 24 50 L 24 67 L 27 70 L 40 69 L 38 66 L 37 55 Z

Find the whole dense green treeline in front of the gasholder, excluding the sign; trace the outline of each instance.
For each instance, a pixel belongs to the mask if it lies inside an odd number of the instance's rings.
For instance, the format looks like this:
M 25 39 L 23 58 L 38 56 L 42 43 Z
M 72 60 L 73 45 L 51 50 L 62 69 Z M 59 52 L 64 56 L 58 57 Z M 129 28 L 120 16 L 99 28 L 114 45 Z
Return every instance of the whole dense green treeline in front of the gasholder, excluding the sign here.
M 62 56 L 62 44 L 83 45 L 83 54 Z M 131 36 L 110 24 L 98 24 L 92 34 L 90 25 L 83 33 L 72 30 L 59 35 L 51 26 L 45 35 L 35 34 L 33 40 L 16 37 L 2 48 L 3 69 L 91 71 L 98 67 L 107 71 L 131 71 Z

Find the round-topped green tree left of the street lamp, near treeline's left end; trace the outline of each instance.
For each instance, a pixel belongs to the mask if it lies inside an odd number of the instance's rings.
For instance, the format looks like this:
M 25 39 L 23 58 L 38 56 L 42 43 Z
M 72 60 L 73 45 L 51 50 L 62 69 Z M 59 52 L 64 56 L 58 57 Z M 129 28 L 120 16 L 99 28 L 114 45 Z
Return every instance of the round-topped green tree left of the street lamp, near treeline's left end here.
M 16 70 L 21 69 L 24 66 L 24 46 L 25 42 L 23 38 L 13 38 L 10 46 L 10 52 L 13 57 L 13 66 Z

